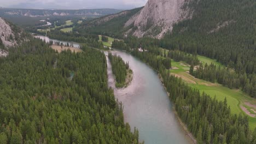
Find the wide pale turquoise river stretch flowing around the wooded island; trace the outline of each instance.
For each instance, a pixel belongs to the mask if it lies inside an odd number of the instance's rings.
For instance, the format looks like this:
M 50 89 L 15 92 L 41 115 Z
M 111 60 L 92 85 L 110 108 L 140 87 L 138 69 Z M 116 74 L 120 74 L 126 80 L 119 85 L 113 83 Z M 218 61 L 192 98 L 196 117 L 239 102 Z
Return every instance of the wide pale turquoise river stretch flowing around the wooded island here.
M 129 53 L 112 51 L 129 62 L 133 80 L 127 88 L 114 85 L 112 67 L 107 57 L 108 85 L 124 105 L 124 119 L 139 131 L 139 140 L 146 144 L 192 143 L 185 135 L 172 109 L 173 104 L 159 80 L 158 73 Z M 107 55 L 108 52 L 105 52 Z

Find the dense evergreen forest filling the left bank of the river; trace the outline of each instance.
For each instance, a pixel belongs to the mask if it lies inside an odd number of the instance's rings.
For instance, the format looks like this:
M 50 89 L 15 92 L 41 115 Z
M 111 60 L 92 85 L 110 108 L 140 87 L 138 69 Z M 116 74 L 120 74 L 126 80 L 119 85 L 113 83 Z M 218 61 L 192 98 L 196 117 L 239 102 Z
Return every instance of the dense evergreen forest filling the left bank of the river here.
M 106 57 L 33 39 L 0 59 L 1 143 L 138 143 L 107 85 Z

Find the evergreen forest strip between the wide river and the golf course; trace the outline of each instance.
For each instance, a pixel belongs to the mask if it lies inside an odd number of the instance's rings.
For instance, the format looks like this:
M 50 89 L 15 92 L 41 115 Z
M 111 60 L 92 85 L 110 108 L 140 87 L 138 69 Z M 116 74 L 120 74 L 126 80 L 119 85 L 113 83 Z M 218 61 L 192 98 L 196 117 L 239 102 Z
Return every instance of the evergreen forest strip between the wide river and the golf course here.
M 189 87 L 181 79 L 170 75 L 161 60 L 157 47 L 148 52 L 132 51 L 132 55 L 148 63 L 161 75 L 170 99 L 182 121 L 196 137 L 197 143 L 255 143 L 256 129 L 249 130 L 248 117 L 233 115 L 226 99 L 218 101 L 197 89 Z

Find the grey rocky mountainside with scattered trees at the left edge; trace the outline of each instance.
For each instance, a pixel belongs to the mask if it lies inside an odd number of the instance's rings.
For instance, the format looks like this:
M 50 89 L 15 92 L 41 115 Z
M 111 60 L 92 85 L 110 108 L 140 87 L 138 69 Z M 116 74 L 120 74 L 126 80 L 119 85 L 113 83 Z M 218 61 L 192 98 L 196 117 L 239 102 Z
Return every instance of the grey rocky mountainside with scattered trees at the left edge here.
M 27 33 L 2 17 L 0 17 L 0 30 L 0 57 L 8 55 L 6 50 L 9 47 L 17 46 L 28 39 Z

